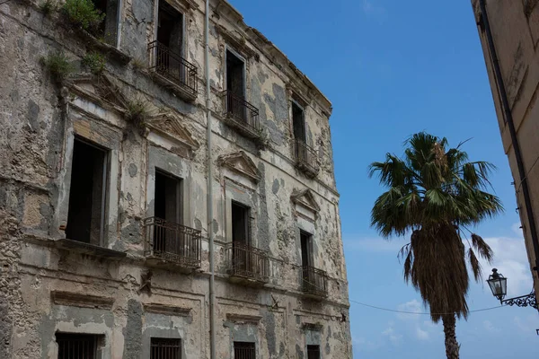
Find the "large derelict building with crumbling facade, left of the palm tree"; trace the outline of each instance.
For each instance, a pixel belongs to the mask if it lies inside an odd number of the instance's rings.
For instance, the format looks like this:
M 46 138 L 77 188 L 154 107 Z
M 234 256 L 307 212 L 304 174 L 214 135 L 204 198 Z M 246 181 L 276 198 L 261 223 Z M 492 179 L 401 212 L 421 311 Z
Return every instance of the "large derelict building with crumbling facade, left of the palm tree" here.
M 0 1 L 0 358 L 351 357 L 330 101 L 225 0 L 84 4 Z

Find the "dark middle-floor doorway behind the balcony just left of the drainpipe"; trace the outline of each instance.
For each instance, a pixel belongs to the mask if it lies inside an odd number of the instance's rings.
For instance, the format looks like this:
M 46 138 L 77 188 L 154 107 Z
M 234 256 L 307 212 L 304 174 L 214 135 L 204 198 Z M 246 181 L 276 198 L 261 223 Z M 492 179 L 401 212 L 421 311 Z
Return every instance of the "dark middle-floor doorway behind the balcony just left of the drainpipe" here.
M 154 250 L 178 254 L 180 241 L 184 240 L 174 225 L 182 222 L 181 180 L 158 170 L 155 170 L 154 215 L 166 222 L 154 227 Z

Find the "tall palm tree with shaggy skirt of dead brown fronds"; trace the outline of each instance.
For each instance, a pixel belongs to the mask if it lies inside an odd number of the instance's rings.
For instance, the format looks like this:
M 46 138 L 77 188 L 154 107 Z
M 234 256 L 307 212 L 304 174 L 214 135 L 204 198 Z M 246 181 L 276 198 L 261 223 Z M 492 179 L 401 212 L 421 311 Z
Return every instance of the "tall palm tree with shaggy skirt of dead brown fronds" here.
M 489 262 L 492 258 L 480 236 L 472 234 L 466 249 L 461 233 L 503 210 L 499 198 L 486 192 L 495 167 L 468 162 L 468 154 L 460 150 L 464 143 L 447 149 L 446 138 L 424 132 L 404 144 L 402 159 L 387 153 L 384 162 L 369 166 L 369 177 L 377 175 L 387 188 L 376 199 L 371 223 L 385 239 L 411 234 L 410 243 L 399 252 L 404 279 L 420 291 L 431 319 L 442 320 L 447 358 L 458 359 L 455 318 L 468 316 L 466 259 L 479 281 L 476 253 Z

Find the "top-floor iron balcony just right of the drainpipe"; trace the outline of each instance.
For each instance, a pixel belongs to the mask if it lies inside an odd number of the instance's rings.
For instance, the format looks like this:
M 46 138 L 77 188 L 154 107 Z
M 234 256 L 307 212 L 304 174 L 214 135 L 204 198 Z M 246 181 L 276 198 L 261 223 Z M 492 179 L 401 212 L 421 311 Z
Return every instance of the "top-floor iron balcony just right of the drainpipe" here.
M 260 137 L 261 122 L 258 109 L 234 92 L 225 91 L 222 95 L 225 102 L 226 123 L 238 129 L 244 136 Z

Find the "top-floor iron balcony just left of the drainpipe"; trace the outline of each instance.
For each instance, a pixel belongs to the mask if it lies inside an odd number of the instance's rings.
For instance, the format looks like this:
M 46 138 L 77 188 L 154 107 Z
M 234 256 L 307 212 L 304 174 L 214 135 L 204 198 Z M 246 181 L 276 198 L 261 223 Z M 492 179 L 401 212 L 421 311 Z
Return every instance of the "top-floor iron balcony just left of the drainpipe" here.
M 165 87 L 188 101 L 195 101 L 199 81 L 197 67 L 158 41 L 148 44 L 149 71 Z

